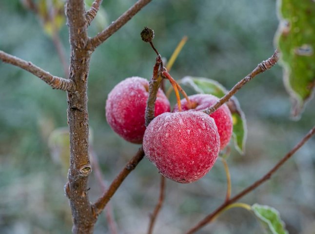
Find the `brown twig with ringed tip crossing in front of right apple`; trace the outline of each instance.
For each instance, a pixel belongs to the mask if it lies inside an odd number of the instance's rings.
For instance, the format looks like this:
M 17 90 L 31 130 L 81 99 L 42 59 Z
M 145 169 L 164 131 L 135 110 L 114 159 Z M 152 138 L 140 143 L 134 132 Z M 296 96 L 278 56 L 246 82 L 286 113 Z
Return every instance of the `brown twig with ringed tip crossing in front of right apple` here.
M 263 72 L 269 70 L 270 68 L 272 68 L 277 63 L 278 59 L 279 59 L 279 52 L 278 52 L 278 50 L 276 50 L 272 57 L 259 63 L 257 65 L 257 67 L 250 74 L 248 74 L 245 78 L 240 80 L 226 95 L 224 95 L 222 98 L 220 98 L 216 104 L 205 109 L 203 112 L 205 112 L 206 114 L 209 114 L 209 115 L 214 113 L 220 106 L 222 106 L 233 95 L 235 95 L 236 92 L 240 88 L 242 88 L 244 84 L 251 81 L 258 74 L 263 73 Z

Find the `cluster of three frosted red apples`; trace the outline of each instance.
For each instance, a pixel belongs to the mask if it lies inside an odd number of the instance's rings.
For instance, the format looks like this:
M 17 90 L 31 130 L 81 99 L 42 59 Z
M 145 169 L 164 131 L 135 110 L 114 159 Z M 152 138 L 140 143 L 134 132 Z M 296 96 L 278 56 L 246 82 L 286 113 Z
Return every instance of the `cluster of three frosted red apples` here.
M 215 164 L 219 151 L 232 136 L 232 115 L 226 104 L 213 114 L 202 112 L 218 98 L 197 94 L 180 101 L 170 112 L 170 102 L 162 90 L 157 92 L 155 118 L 145 128 L 145 108 L 149 82 L 132 77 L 118 83 L 106 101 L 108 124 L 125 140 L 143 144 L 146 157 L 165 177 L 191 183 L 206 175 Z M 178 103 L 179 104 L 179 103 Z

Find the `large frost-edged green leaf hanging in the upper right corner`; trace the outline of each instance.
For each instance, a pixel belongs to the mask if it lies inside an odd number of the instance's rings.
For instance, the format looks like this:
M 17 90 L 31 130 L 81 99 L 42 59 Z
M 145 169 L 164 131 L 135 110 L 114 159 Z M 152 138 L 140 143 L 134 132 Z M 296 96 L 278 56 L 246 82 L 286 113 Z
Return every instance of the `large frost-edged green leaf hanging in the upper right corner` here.
M 299 117 L 315 86 L 315 2 L 278 0 L 276 44 L 286 88 L 293 99 L 292 113 Z

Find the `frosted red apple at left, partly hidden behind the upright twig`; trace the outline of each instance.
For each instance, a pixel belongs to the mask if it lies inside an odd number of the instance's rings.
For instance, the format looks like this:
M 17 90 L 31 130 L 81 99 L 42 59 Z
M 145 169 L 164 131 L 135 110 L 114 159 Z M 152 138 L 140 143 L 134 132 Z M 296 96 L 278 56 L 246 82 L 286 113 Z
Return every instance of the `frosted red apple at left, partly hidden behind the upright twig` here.
M 132 143 L 142 143 L 148 90 L 146 79 L 132 77 L 119 82 L 108 94 L 105 107 L 107 122 L 114 132 Z M 158 90 L 155 116 L 169 111 L 170 102 L 162 90 Z

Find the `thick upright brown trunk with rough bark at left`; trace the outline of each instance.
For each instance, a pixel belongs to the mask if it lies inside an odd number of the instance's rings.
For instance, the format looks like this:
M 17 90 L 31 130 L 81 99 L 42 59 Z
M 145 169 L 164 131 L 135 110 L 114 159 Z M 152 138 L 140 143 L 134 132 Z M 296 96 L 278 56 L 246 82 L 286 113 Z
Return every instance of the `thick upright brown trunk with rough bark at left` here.
M 71 45 L 70 79 L 77 92 L 68 93 L 70 128 L 69 182 L 65 191 L 69 198 L 74 234 L 92 234 L 97 220 L 90 204 L 87 183 L 92 171 L 89 159 L 89 117 L 87 111 L 87 80 L 91 52 L 87 48 L 87 24 L 83 0 L 67 0 L 65 5 Z

